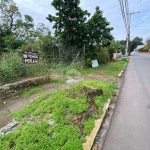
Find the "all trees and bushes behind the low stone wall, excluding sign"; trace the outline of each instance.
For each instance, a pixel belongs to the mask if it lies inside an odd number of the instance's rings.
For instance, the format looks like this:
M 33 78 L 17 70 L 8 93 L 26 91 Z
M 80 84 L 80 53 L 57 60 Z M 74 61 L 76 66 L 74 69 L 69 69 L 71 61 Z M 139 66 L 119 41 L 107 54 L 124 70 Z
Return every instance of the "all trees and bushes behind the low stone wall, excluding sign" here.
M 82 10 L 79 3 L 78 0 L 53 0 L 52 6 L 58 13 L 56 16 L 47 14 L 47 20 L 54 23 L 55 36 L 52 36 L 43 23 L 35 25 L 32 16 L 23 16 L 13 0 L 1 1 L 1 84 L 26 77 L 49 75 L 52 70 L 61 72 L 62 67 L 66 67 L 66 70 L 63 69 L 64 73 L 69 73 L 69 67 L 74 63 L 78 63 L 81 68 L 90 68 L 92 60 L 97 59 L 102 65 L 112 61 L 114 52 L 124 54 L 125 45 L 114 40 L 111 34 L 113 28 L 100 7 L 95 8 L 95 13 L 89 19 L 90 13 Z M 75 8 L 68 10 L 70 5 Z M 68 24 L 74 28 L 70 28 Z M 24 64 L 24 51 L 38 52 L 39 63 Z

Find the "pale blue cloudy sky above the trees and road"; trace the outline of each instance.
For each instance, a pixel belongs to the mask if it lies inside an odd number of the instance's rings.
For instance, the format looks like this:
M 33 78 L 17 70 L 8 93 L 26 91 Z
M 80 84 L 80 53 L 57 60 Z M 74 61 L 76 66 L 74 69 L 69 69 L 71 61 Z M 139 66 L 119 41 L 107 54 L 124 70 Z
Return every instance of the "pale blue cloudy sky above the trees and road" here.
M 56 10 L 51 5 L 52 0 L 14 0 L 22 15 L 32 16 L 35 24 L 44 23 L 54 33 L 53 24 L 46 17 L 48 14 L 55 15 Z M 150 2 L 149 0 L 128 0 L 129 13 L 139 12 L 131 15 L 131 40 L 136 36 L 146 39 L 150 37 Z M 103 16 L 114 28 L 111 32 L 115 40 L 126 40 L 126 30 L 121 14 L 119 0 L 80 0 L 80 7 L 91 13 L 95 12 L 96 6 L 103 11 Z

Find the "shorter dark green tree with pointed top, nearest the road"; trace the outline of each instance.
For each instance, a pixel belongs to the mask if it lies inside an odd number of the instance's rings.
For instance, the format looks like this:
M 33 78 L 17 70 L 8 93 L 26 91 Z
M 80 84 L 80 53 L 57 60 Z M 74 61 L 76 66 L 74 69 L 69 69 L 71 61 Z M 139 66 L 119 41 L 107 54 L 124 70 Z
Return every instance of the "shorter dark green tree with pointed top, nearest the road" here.
M 87 22 L 89 43 L 90 45 L 110 45 L 110 40 L 113 39 L 113 36 L 110 34 L 112 27 L 109 27 L 110 23 L 103 17 L 103 12 L 100 10 L 100 7 L 96 7 L 96 11 L 91 19 Z

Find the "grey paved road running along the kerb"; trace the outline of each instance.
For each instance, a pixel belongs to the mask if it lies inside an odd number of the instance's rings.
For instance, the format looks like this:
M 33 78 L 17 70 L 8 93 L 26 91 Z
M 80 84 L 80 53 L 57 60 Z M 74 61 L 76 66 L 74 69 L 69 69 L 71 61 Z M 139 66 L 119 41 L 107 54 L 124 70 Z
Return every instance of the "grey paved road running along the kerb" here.
M 150 55 L 130 57 L 103 150 L 150 150 Z

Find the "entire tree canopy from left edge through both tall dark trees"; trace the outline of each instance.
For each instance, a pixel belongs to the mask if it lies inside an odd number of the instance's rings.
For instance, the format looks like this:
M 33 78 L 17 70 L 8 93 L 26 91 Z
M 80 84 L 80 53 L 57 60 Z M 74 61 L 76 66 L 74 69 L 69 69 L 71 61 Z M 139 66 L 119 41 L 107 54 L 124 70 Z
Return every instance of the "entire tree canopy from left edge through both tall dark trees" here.
M 90 16 L 79 4 L 80 0 L 52 1 L 57 12 L 46 17 L 50 22 L 54 22 L 55 37 L 52 37 L 43 23 L 35 25 L 32 16 L 22 16 L 13 0 L 1 0 L 0 51 L 18 48 L 33 50 L 37 46 L 36 49 L 42 51 L 47 59 L 72 60 L 80 53 L 90 62 L 104 51 L 112 55 L 113 51 L 110 49 L 113 28 L 103 16 L 100 7 L 97 6 L 95 13 Z

